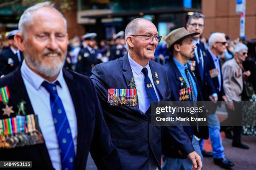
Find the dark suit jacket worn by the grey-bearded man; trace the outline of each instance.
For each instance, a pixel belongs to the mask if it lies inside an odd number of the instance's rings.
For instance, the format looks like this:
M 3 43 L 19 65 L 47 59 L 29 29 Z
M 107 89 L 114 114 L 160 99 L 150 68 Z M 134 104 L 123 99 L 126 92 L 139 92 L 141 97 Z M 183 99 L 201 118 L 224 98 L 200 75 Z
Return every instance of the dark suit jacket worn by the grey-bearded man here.
M 120 159 L 111 143 L 92 81 L 88 77 L 66 69 L 63 69 L 63 76 L 69 88 L 77 116 L 77 154 L 74 169 L 85 169 L 89 151 L 98 169 L 121 169 Z M 0 87 L 4 86 L 8 86 L 10 92 L 8 105 L 13 106 L 15 112 L 18 111 L 18 103 L 24 100 L 26 113 L 34 114 L 21 77 L 20 67 L 0 79 Z M 0 109 L 3 107 L 4 105 L 1 103 Z M 15 114 L 11 114 L 11 117 L 15 117 Z M 7 117 L 3 117 L 1 114 L 0 119 L 3 118 Z M 34 169 L 53 169 L 45 144 L 2 149 L 0 155 L 2 161 L 32 161 Z

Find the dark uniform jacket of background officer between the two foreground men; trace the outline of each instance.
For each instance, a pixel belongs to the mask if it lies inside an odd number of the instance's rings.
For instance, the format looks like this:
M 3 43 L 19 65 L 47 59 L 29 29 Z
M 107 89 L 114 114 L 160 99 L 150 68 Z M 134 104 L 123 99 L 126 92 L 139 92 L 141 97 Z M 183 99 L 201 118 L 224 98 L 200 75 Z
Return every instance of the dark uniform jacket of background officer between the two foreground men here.
M 78 54 L 76 72 L 90 77 L 92 75 L 92 68 L 101 62 L 96 58 L 97 53 L 97 50 L 92 54 L 88 48 L 82 48 Z

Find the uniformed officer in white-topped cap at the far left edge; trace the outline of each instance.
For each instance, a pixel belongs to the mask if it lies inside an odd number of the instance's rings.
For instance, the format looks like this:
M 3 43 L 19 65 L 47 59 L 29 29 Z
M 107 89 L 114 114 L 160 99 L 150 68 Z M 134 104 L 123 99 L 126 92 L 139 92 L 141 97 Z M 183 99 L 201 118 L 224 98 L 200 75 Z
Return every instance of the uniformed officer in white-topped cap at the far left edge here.
M 0 54 L 0 76 L 12 72 L 20 65 L 20 62 L 23 61 L 23 53 L 18 50 L 17 44 L 13 39 L 17 32 L 19 32 L 19 30 L 13 30 L 6 36 L 10 47 L 3 50 Z

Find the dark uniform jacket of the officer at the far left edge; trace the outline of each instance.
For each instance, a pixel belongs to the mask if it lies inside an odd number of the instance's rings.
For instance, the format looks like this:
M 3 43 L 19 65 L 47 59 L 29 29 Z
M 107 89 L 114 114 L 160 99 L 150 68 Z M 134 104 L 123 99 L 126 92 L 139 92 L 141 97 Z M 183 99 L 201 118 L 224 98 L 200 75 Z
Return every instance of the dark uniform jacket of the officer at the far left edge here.
M 21 62 L 23 61 L 23 53 L 20 52 Z M 11 58 L 13 60 L 12 64 L 8 64 L 8 59 Z M 0 76 L 7 75 L 9 72 L 12 72 L 20 65 L 18 56 L 13 54 L 13 51 L 8 47 L 6 50 L 0 54 Z

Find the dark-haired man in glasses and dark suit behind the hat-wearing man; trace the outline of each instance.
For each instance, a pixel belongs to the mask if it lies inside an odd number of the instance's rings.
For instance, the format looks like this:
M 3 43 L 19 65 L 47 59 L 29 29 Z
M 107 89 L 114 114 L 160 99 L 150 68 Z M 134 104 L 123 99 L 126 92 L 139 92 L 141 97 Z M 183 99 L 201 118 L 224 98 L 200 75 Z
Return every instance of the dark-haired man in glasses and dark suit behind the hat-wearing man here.
M 201 13 L 194 13 L 193 15 L 190 15 L 187 20 L 187 30 L 189 33 L 195 33 L 199 32 L 199 34 L 193 36 L 193 44 L 195 45 L 195 57 L 190 59 L 189 64 L 191 65 L 192 70 L 195 72 L 195 75 L 197 77 L 198 85 L 202 92 L 203 100 L 208 101 L 211 100 L 213 102 L 218 100 L 218 96 L 215 90 L 215 87 L 212 83 L 212 79 L 210 77 L 210 74 L 207 70 L 207 59 L 208 57 L 206 55 L 205 45 L 200 40 L 200 36 L 202 35 L 202 32 L 204 30 L 204 23 L 205 23 L 205 16 Z M 207 95 L 209 91 L 210 95 Z M 197 138 L 198 139 L 198 138 Z M 199 139 L 198 139 L 199 140 Z M 201 141 L 202 142 L 202 141 Z M 212 152 L 205 151 L 202 147 L 202 155 L 204 157 L 212 157 Z

